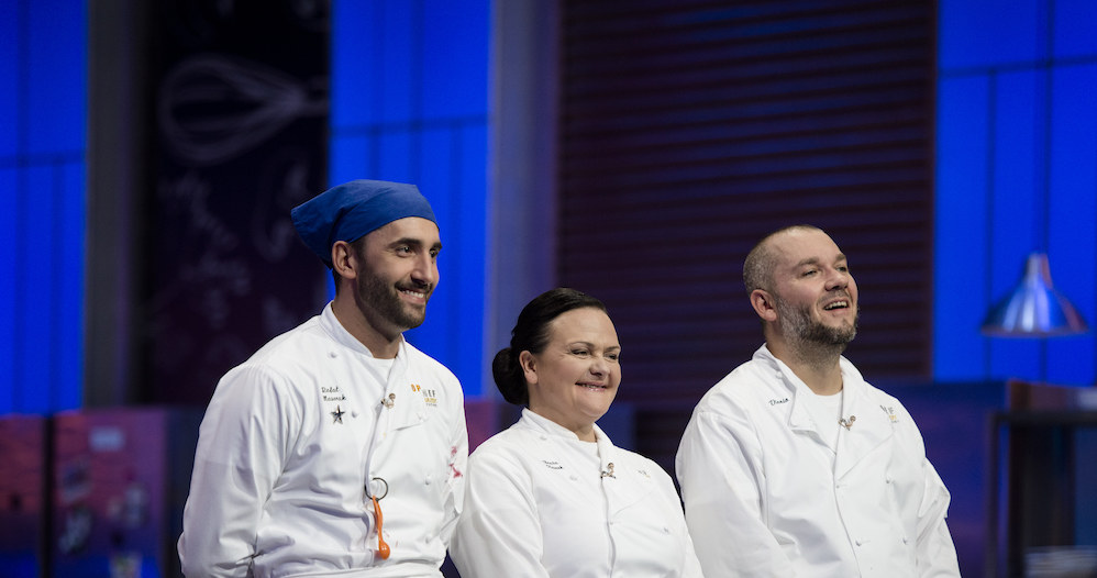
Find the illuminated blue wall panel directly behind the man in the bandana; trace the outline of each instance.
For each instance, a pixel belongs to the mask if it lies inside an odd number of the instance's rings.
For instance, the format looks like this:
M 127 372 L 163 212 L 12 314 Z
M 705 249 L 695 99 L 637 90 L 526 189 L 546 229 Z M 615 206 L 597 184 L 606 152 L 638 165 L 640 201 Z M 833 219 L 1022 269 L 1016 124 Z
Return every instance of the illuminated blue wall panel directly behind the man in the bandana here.
M 483 384 L 489 0 L 335 1 L 331 184 L 414 182 L 442 232 L 441 281 L 408 340 Z

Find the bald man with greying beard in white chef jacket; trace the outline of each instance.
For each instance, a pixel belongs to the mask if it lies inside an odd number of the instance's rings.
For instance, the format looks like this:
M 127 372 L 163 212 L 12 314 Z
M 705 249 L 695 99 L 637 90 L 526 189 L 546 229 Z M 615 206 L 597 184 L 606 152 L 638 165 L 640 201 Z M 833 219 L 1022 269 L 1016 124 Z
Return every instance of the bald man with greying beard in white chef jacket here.
M 845 255 L 789 226 L 743 280 L 765 343 L 697 404 L 675 464 L 705 575 L 960 576 L 917 425 L 842 355 L 858 319 Z

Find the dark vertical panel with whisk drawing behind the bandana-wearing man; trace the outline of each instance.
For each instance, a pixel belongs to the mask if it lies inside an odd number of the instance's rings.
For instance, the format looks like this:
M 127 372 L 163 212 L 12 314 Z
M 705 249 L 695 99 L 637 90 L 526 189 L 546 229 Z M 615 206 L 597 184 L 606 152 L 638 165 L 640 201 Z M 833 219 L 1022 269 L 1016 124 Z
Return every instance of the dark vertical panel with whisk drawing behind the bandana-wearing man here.
M 145 398 L 204 404 L 325 298 L 289 210 L 325 184 L 329 5 L 175 1 L 154 22 Z

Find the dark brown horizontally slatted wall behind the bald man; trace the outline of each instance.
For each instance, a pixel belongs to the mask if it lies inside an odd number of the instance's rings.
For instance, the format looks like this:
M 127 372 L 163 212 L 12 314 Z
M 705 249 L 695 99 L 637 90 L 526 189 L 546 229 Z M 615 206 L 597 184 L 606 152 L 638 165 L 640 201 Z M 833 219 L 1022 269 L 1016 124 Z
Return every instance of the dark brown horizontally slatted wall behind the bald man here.
M 558 278 L 610 307 L 619 399 L 656 419 L 745 360 L 742 259 L 798 222 L 850 256 L 847 356 L 869 380 L 927 379 L 933 2 L 562 5 Z

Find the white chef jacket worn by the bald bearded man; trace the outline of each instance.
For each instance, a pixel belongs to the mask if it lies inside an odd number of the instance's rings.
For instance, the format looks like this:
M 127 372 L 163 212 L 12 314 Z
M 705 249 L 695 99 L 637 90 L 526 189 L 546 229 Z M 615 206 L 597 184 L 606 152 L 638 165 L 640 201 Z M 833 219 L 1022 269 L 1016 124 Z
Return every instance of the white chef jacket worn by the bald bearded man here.
M 836 452 L 763 345 L 697 404 L 675 468 L 707 576 L 957 577 L 950 496 L 898 400 L 844 357 Z

